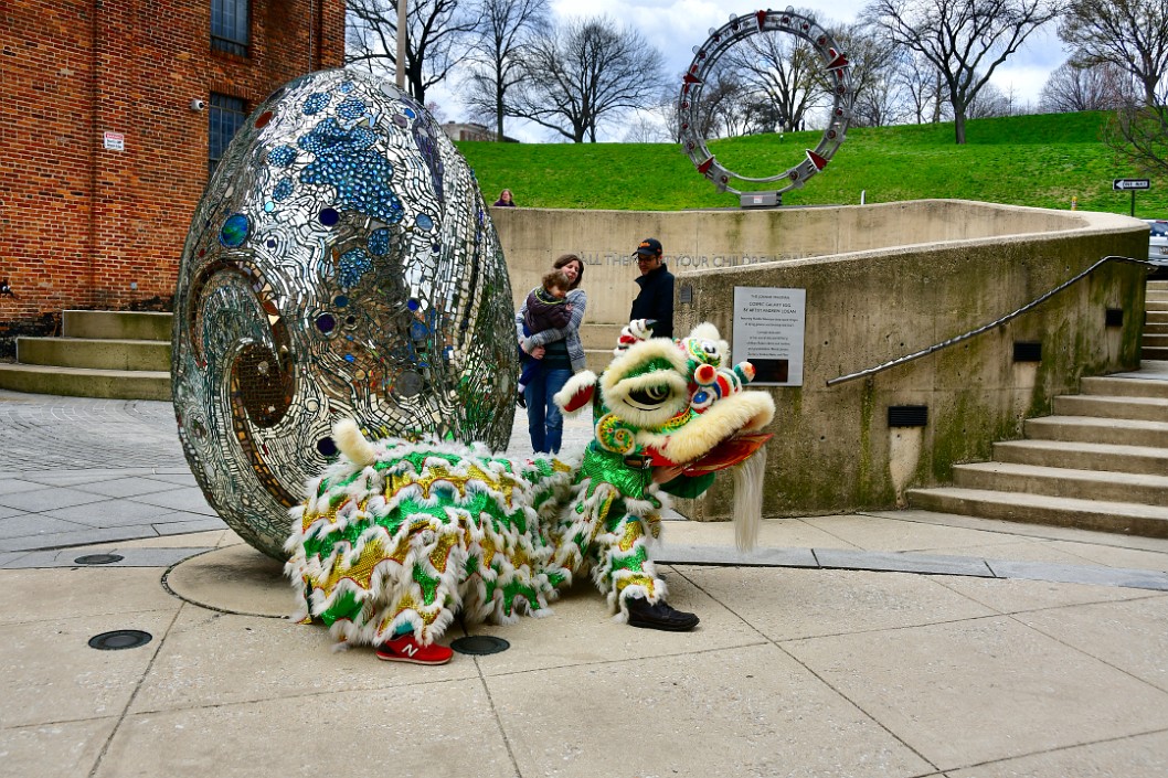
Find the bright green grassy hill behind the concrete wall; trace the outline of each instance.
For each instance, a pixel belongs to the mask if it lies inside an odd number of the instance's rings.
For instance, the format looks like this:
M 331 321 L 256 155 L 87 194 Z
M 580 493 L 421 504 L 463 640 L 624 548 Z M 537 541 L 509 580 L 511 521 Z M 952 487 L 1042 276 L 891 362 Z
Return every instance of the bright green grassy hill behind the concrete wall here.
M 968 143 L 953 125 L 854 128 L 832 164 L 785 206 L 858 204 L 957 197 L 1042 208 L 1127 214 L 1131 194 L 1112 179 L 1147 178 L 1100 141 L 1105 113 L 1056 113 L 976 119 Z M 773 175 L 798 164 L 820 132 L 719 140 L 710 150 L 741 175 Z M 694 169 L 676 144 L 458 144 L 493 202 L 509 188 L 520 206 L 618 210 L 737 207 Z M 1168 178 L 1152 179 L 1135 197 L 1135 215 L 1168 218 Z

